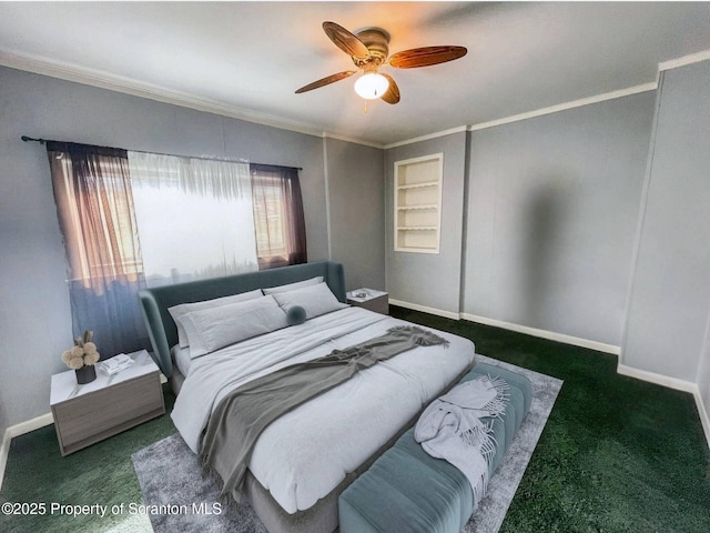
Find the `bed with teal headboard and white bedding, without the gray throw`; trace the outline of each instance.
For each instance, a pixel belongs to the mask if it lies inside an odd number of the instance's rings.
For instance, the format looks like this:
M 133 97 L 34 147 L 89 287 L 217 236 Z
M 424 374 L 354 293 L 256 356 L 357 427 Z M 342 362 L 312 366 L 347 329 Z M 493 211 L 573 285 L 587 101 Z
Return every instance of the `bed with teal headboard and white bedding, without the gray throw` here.
M 323 299 L 311 296 L 316 286 L 321 293 L 327 288 L 329 306 L 318 308 Z M 264 305 L 270 302 L 268 313 L 274 312 L 272 298 L 281 306 L 285 324 L 278 322 L 281 316 L 268 314 L 256 322 L 275 321 L 271 331 L 244 339 L 236 334 L 239 342 L 226 345 L 222 344 L 230 334 L 217 332 L 219 342 L 207 345 L 205 353 L 205 348 L 194 342 L 181 349 L 184 342 L 178 325 L 184 319 L 176 323 L 173 314 L 182 305 L 250 294 L 245 301 L 255 301 L 260 291 L 266 293 L 263 301 Z M 146 289 L 140 300 L 153 358 L 178 394 L 171 416 L 194 452 L 200 451 L 213 410 L 230 391 L 333 350 L 361 345 L 393 328 L 412 325 L 348 306 L 343 266 L 331 261 Z M 226 305 L 193 311 L 191 316 L 212 320 L 227 314 Z M 229 305 L 241 310 L 257 303 Z M 434 333 L 447 341 L 446 345 L 417 346 L 363 370 L 285 413 L 261 433 L 243 489 L 270 532 L 337 530 L 338 495 L 416 422 L 429 402 L 470 370 L 475 363 L 473 342 Z

